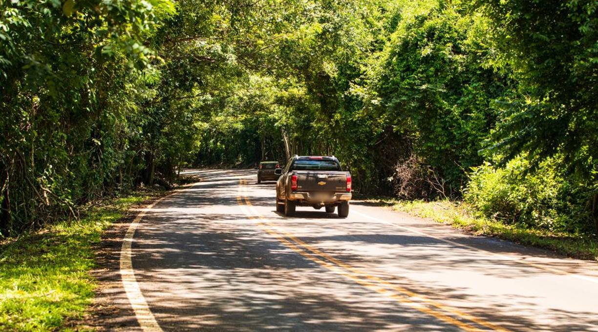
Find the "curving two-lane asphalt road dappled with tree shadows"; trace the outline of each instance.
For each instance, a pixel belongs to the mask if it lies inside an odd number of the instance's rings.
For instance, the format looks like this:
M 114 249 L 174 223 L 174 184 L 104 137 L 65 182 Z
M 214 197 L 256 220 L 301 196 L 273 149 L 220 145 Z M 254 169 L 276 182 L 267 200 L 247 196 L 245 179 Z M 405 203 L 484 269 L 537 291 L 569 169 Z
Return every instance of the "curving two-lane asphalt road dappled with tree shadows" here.
M 288 218 L 254 171 L 187 173 L 202 181 L 132 234 L 123 278 L 148 331 L 598 331 L 592 262 L 364 202 Z

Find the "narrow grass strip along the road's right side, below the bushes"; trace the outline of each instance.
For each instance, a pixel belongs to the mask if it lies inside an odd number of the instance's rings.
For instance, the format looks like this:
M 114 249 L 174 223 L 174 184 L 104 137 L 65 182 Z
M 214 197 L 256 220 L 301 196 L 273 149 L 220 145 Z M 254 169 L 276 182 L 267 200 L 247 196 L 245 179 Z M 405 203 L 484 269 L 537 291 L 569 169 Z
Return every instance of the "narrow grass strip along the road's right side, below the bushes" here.
M 545 248 L 578 259 L 598 260 L 598 241 L 589 236 L 565 232 L 551 232 L 545 229 L 529 228 L 526 225 L 507 224 L 480 216 L 465 202 L 449 200 L 399 201 L 397 199 L 368 199 L 381 205 L 388 205 L 393 210 L 413 216 L 432 219 L 454 228 L 464 229 L 474 235 L 496 236 L 509 241 Z

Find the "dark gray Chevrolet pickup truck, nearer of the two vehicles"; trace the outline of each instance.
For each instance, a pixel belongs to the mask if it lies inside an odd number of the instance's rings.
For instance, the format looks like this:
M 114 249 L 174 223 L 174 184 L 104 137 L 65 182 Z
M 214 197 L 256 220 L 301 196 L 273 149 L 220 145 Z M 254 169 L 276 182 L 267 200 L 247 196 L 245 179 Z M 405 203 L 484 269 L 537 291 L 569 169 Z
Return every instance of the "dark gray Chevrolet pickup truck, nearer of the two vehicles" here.
M 349 215 L 351 173 L 343 171 L 334 156 L 292 156 L 276 182 L 276 211 L 292 216 L 295 207 L 324 207 L 338 216 Z

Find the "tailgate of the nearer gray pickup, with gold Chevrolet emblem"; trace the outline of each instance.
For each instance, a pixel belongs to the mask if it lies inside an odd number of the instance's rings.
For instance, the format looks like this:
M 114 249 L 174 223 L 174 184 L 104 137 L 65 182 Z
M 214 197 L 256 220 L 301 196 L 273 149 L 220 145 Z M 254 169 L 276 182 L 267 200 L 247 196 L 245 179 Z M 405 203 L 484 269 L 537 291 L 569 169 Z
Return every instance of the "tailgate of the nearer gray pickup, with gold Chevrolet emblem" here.
M 345 192 L 347 172 L 338 171 L 294 171 L 297 175 L 297 190 L 308 192 Z

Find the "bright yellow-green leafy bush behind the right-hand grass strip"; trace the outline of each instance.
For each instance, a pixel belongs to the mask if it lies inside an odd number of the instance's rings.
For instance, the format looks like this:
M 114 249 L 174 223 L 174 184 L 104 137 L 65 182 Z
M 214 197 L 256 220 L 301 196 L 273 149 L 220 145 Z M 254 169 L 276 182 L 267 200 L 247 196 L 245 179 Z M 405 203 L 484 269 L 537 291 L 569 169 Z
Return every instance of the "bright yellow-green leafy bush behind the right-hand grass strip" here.
M 466 202 L 486 217 L 532 228 L 573 233 L 593 232 L 587 186 L 556 167 L 554 159 L 529 172 L 529 162 L 515 158 L 503 168 L 472 168 L 464 190 Z

